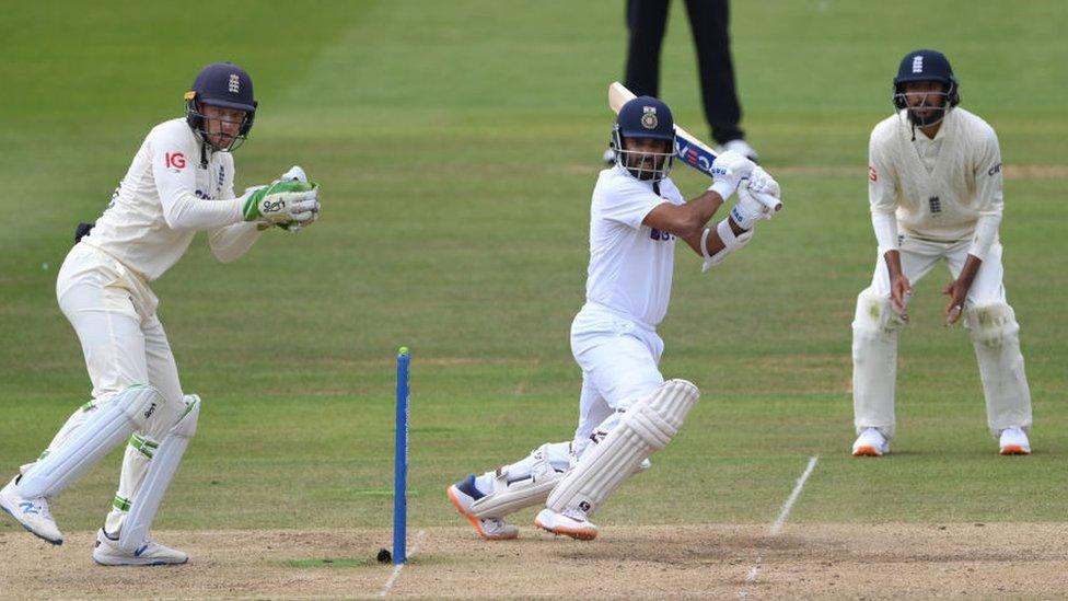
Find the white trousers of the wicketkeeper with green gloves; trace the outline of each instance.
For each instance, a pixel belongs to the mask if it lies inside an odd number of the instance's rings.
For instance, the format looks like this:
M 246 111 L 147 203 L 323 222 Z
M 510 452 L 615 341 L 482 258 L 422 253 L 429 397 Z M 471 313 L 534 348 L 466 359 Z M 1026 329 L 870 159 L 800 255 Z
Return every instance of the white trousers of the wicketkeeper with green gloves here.
M 156 409 L 163 415 L 152 420 L 150 430 L 136 432 L 126 448 L 118 493 L 106 520 L 108 532 L 117 534 L 148 470 L 151 450 L 185 411 L 178 370 L 155 315 L 159 300 L 119 261 L 84 242 L 74 245 L 59 269 L 56 296 L 82 345 L 93 402 L 70 416 L 49 451 L 77 431 L 92 411 L 130 385 L 151 384 L 166 400 Z

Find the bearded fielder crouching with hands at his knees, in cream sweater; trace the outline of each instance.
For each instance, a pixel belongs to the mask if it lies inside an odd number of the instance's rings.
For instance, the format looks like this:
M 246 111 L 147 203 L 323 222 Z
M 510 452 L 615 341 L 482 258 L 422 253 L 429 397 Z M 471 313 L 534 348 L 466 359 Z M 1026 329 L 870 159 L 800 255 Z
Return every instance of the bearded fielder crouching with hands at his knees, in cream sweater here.
M 914 284 L 942 258 L 953 280 L 945 323 L 964 317 L 1001 454 L 1029 454 L 1031 392 L 1020 326 L 1002 286 L 1001 151 L 994 129 L 957 106 L 959 84 L 936 50 L 909 53 L 894 79 L 896 114 L 871 132 L 868 194 L 879 256 L 852 322 L 857 456 L 890 451 L 897 333 Z

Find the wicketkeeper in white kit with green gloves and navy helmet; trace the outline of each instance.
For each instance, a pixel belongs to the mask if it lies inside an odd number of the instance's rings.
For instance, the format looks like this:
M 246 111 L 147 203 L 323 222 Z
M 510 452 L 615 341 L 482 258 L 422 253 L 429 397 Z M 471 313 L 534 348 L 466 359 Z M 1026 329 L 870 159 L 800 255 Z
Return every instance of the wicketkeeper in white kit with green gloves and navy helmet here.
M 248 73 L 229 62 L 209 65 L 185 100 L 186 116 L 149 132 L 107 209 L 91 230 L 79 228 L 59 270 L 59 307 L 81 342 L 92 400 L 0 490 L 0 508 L 61 544 L 48 500 L 128 441 L 118 493 L 93 550 L 102 565 L 188 559 L 148 536 L 200 413 L 200 398 L 182 392 L 149 282 L 182 257 L 199 230 L 209 232 L 214 255 L 230 262 L 271 226 L 299 230 L 318 215 L 317 186 L 300 167 L 234 197 L 230 151 L 256 112 Z

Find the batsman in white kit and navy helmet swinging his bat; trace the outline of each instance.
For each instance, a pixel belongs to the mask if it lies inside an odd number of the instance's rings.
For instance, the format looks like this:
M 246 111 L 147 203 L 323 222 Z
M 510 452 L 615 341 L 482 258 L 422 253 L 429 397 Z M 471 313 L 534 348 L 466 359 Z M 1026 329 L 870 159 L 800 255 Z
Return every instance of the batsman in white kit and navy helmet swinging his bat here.
M 623 106 L 613 129 L 616 165 L 593 190 L 587 302 L 571 324 L 571 351 L 582 368 L 579 425 L 571 442 L 546 443 L 530 456 L 449 487 L 449 499 L 486 539 L 514 539 L 504 518 L 546 504 L 538 527 L 593 539 L 590 521 L 630 475 L 649 466 L 697 403 L 697 388 L 664 381 L 664 344 L 655 326 L 668 311 L 675 239 L 705 259 L 705 269 L 744 246 L 770 209 L 751 190 L 779 196 L 778 184 L 736 152 L 716 160 L 712 186 L 689 203 L 668 177 L 674 147 L 671 112 L 640 96 Z M 729 218 L 705 228 L 734 192 Z

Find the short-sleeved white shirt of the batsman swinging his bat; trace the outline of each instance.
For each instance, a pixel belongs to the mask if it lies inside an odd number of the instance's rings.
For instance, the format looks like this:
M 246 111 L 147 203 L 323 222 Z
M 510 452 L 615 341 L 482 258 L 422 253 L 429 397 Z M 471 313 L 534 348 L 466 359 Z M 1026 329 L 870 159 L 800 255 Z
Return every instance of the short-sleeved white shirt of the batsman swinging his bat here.
M 660 194 L 623 167 L 601 172 L 590 207 L 587 302 L 655 327 L 668 312 L 675 236 L 641 221 L 663 203 L 684 204 L 670 178 Z

